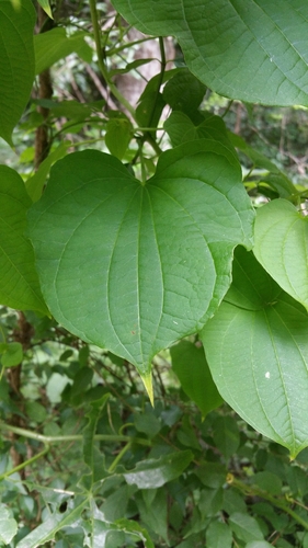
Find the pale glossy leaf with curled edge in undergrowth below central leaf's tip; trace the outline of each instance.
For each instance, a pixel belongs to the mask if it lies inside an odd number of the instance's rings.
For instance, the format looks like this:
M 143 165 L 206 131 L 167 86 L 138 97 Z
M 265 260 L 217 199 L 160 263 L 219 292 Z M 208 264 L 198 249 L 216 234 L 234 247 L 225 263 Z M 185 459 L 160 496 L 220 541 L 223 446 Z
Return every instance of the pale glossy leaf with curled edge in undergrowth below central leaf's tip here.
M 129 486 L 136 484 L 139 489 L 157 489 L 168 481 L 179 478 L 192 459 L 191 450 L 180 450 L 160 458 L 149 458 L 138 463 L 134 470 L 124 473 L 124 478 Z

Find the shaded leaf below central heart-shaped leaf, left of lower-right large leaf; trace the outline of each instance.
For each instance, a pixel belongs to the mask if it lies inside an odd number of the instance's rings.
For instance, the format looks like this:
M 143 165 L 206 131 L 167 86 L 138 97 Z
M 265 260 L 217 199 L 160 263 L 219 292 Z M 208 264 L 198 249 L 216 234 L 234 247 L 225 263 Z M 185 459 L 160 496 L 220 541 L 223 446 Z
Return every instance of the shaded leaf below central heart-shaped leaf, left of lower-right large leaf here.
M 203 347 L 181 341 L 170 352 L 172 368 L 184 392 L 197 404 L 203 416 L 221 406 L 224 400 L 213 381 Z

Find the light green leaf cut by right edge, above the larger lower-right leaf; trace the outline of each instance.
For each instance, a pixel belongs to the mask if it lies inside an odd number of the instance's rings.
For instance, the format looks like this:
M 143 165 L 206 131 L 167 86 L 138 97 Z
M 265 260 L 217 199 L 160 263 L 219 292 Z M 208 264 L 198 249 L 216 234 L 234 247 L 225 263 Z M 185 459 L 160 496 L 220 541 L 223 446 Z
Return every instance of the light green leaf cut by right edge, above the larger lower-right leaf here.
M 286 199 L 258 209 L 253 253 L 294 299 L 308 309 L 308 221 Z

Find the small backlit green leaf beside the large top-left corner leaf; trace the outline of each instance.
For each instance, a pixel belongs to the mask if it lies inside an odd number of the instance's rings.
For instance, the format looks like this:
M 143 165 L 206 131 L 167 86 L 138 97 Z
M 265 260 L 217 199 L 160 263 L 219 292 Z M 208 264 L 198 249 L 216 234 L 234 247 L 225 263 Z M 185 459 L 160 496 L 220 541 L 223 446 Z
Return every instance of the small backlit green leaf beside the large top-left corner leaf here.
M 77 53 L 87 62 L 91 62 L 92 49 L 84 42 L 85 35 L 88 34 L 84 32 L 77 32 L 67 37 L 64 27 L 56 27 L 36 34 L 34 36 L 35 73 L 39 75 L 43 70 L 72 53 Z

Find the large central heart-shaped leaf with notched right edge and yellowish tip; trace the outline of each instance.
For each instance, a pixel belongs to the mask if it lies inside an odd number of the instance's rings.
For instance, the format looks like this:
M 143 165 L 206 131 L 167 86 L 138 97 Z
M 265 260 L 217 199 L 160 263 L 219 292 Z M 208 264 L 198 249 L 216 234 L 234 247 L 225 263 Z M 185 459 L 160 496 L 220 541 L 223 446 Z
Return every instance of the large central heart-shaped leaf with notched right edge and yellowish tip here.
M 233 152 L 208 139 L 163 152 L 146 185 L 114 157 L 70 155 L 28 220 L 55 318 L 149 381 L 152 356 L 219 306 L 253 218 Z

